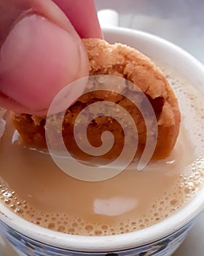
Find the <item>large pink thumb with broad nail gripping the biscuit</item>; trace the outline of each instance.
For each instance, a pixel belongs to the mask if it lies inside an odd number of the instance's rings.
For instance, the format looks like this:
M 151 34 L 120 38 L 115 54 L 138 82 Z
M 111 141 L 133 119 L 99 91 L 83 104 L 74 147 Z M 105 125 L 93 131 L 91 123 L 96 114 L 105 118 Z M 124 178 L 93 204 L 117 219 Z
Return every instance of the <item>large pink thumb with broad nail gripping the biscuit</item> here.
M 71 23 L 58 26 L 49 12 L 46 17 L 29 12 L 1 45 L 0 104 L 43 115 L 63 87 L 87 75 L 86 51 Z M 83 88 L 78 90 L 82 93 Z

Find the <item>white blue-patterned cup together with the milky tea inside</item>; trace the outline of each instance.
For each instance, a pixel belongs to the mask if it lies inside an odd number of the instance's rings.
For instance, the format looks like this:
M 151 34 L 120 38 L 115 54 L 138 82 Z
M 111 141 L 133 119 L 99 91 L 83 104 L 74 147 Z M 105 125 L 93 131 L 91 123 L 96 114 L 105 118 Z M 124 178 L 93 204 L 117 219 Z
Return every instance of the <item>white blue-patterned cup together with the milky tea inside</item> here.
M 176 146 L 144 170 L 82 181 L 60 170 L 47 151 L 23 146 L 1 110 L 0 228 L 24 255 L 170 256 L 204 208 L 203 65 L 152 34 L 117 27 L 103 33 L 165 73 L 181 111 Z

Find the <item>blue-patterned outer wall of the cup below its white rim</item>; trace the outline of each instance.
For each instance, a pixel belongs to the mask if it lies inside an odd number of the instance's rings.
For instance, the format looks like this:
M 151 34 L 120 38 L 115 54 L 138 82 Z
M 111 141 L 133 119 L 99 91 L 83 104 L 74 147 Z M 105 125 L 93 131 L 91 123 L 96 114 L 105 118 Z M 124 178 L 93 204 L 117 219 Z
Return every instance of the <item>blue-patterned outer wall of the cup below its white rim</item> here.
M 189 222 L 184 227 L 159 241 L 136 248 L 121 249 L 119 251 L 116 249 L 114 252 L 77 252 L 42 244 L 40 241 L 35 241 L 18 233 L 12 227 L 0 221 L 1 233 L 18 251 L 25 253 L 27 256 L 170 256 L 181 242 L 184 241 L 191 227 L 192 222 Z

